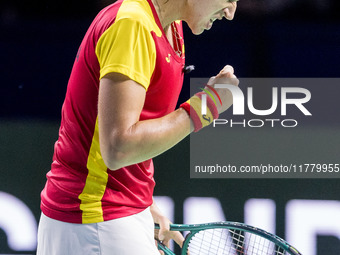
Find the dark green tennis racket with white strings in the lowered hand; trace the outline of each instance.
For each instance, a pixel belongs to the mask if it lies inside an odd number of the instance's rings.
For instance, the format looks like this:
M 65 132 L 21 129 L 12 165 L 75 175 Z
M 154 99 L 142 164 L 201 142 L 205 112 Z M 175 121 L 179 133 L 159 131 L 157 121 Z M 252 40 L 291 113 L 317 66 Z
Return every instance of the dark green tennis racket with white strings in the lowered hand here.
M 158 224 L 155 229 L 159 229 Z M 170 230 L 189 231 L 181 255 L 302 255 L 282 238 L 238 222 L 171 224 Z M 175 255 L 161 242 L 158 249 Z

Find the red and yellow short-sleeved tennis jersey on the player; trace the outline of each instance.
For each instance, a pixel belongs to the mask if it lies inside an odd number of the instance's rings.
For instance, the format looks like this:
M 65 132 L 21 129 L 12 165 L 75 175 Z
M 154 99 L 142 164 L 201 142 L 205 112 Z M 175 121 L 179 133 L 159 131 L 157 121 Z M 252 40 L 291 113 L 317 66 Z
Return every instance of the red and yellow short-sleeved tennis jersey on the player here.
M 138 213 L 152 204 L 153 163 L 109 170 L 99 148 L 99 81 L 118 72 L 146 89 L 140 120 L 175 110 L 183 83 L 181 22 L 168 42 L 151 0 L 119 0 L 88 29 L 69 79 L 53 163 L 41 193 L 42 212 L 71 223 L 95 223 Z M 131 102 L 133 103 L 133 102 Z

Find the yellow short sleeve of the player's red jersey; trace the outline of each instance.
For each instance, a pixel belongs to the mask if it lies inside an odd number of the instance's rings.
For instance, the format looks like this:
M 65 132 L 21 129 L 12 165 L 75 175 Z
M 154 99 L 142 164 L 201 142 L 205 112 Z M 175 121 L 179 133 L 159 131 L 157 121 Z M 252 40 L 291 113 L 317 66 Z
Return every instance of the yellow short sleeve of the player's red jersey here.
M 99 38 L 96 55 L 100 79 L 116 72 L 148 88 L 156 63 L 156 47 L 150 31 L 140 22 L 116 21 Z

